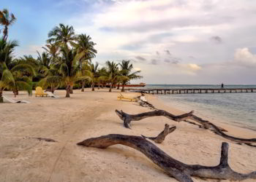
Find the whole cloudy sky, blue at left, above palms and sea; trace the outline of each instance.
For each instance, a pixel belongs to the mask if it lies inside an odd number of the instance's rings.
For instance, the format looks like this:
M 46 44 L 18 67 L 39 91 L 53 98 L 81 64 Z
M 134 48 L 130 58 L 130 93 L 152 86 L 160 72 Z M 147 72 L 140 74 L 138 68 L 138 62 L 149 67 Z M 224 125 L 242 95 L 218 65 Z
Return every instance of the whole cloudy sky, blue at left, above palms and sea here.
M 256 84 L 253 0 L 1 0 L 16 58 L 42 52 L 59 23 L 89 34 L 93 63 L 132 61 L 147 84 Z M 1 27 L 0 27 L 1 28 Z

